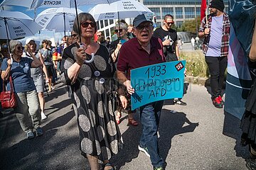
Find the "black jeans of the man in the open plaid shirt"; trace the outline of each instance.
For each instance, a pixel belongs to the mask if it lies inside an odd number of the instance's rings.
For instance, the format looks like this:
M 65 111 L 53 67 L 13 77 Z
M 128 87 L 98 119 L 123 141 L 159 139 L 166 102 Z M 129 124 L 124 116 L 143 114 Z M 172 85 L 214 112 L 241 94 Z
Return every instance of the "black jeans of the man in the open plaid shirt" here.
M 206 63 L 210 71 L 210 89 L 212 98 L 220 96 L 223 87 L 225 69 L 228 65 L 228 57 L 206 56 Z

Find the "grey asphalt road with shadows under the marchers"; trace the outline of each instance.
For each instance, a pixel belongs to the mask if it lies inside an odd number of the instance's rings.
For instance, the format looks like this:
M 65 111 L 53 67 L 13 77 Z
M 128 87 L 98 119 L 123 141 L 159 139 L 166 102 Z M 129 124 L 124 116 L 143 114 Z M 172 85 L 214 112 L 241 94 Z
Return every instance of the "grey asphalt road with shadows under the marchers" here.
M 213 107 L 208 88 L 188 84 L 183 101 L 187 106 L 165 102 L 159 126 L 159 147 L 166 169 L 243 170 L 247 147 L 240 147 L 239 120 Z M 66 87 L 58 84 L 46 96 L 44 135 L 27 140 L 11 110 L 0 118 L 0 169 L 90 169 L 79 150 L 77 116 Z M 138 114 L 135 118 L 139 120 Z M 142 126 L 119 125 L 125 147 L 112 157 L 117 169 L 152 169 L 137 146 Z

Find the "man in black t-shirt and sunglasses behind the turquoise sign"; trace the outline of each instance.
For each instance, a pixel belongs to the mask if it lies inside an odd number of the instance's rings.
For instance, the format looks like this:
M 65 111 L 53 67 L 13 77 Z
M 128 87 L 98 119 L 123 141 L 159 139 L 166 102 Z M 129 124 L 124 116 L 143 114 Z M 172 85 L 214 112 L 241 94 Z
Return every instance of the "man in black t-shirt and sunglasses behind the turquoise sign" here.
M 160 28 L 156 28 L 153 36 L 160 38 L 164 46 L 164 55 L 166 56 L 167 62 L 178 61 L 179 52 L 177 45 L 177 32 L 171 29 L 172 24 L 174 24 L 174 17 L 170 14 L 164 16 L 164 25 Z M 174 99 L 174 103 L 186 106 L 186 103 L 181 101 L 181 98 Z

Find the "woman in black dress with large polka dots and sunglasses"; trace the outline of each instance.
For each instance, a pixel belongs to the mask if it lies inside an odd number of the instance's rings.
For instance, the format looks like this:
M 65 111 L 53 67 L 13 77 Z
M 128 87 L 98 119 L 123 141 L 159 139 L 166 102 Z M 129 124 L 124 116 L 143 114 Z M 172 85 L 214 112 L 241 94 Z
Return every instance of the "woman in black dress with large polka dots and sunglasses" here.
M 112 109 L 112 91 L 117 90 L 114 81 L 115 67 L 106 47 L 92 40 L 96 23 L 90 13 L 78 15 L 73 30 L 81 33 L 81 44 L 74 43 L 66 47 L 61 64 L 61 79 L 73 90 L 73 108 L 78 114 L 80 131 L 80 149 L 87 157 L 91 169 L 113 169 L 108 163 L 112 155 L 122 149 L 122 137 L 115 123 Z M 86 61 L 94 60 L 90 63 Z M 124 108 L 127 100 L 120 96 Z M 98 163 L 99 162 L 99 163 Z

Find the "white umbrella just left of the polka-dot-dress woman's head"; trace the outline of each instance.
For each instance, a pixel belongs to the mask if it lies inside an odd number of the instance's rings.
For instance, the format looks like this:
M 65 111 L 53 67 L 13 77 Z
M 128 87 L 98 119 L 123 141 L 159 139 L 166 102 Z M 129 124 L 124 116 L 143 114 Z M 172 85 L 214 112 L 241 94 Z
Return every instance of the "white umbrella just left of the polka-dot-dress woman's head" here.
M 78 13 L 82 11 L 78 9 Z M 48 8 L 36 17 L 36 23 L 45 29 L 64 32 L 73 30 L 75 8 Z

